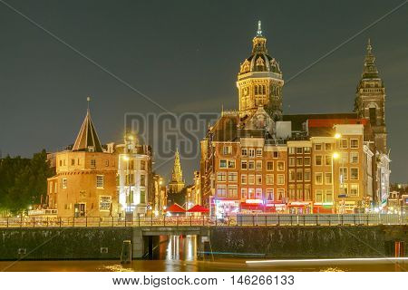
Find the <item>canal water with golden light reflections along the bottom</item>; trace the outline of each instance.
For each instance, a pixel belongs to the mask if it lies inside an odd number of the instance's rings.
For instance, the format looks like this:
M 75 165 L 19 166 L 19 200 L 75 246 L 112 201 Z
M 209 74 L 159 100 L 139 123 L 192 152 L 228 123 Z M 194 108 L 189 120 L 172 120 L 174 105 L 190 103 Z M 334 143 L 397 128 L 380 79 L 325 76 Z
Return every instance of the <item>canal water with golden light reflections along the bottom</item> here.
M 217 255 L 205 255 L 203 259 L 197 259 L 197 237 L 195 236 L 170 236 L 160 238 L 153 252 L 153 260 L 133 260 L 130 265 L 121 265 L 119 260 L 64 260 L 64 261 L 0 261 L 0 271 L 39 271 L 39 272 L 196 272 L 196 271 L 403 271 L 408 268 L 408 263 L 392 263 L 384 261 L 378 263 L 355 263 L 338 265 L 335 262 L 325 262 L 316 265 L 270 266 L 270 265 L 248 265 L 251 260 L 262 260 L 259 256 L 253 258 L 229 258 L 223 253 Z

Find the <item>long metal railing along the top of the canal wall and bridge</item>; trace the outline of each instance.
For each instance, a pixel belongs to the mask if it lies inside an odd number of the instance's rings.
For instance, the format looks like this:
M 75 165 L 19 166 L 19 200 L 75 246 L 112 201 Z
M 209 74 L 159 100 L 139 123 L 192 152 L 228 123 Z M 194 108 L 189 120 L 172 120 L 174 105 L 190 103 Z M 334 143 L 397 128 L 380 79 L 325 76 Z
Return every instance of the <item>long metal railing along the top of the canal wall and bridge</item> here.
M 238 215 L 227 218 L 140 217 L 140 218 L 0 218 L 0 227 L 273 227 L 273 226 L 374 226 L 407 225 L 399 214 Z

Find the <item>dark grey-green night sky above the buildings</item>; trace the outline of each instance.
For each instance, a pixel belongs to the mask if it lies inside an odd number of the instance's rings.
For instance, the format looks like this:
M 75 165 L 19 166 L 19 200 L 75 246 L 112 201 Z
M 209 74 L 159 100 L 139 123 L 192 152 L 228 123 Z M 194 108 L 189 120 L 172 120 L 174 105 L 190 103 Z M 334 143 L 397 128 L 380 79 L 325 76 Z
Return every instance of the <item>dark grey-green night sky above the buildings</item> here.
M 35 23 L 168 111 L 238 108 L 236 78 L 257 20 L 287 81 L 403 3 L 399 1 L 15 1 Z M 408 5 L 283 89 L 284 113 L 352 111 L 367 38 L 385 82 L 392 180 L 407 182 Z M 161 112 L 0 1 L 0 150 L 32 156 L 72 144 L 92 96 L 102 143 L 120 142 L 125 112 Z M 198 149 L 199 150 L 199 149 Z M 156 158 L 156 166 L 161 165 Z M 185 179 L 199 160 L 183 160 Z M 167 179 L 172 161 L 158 169 Z

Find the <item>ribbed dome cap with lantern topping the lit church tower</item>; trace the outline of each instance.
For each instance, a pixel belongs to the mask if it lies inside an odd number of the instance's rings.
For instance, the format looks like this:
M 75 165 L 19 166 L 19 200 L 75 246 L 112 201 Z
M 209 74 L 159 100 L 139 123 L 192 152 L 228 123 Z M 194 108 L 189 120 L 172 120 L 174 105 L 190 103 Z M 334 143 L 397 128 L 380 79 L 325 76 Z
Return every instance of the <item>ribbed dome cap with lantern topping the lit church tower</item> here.
M 267 38 L 262 35 L 260 21 L 257 27 L 257 36 L 252 40 L 252 53 L 241 63 L 238 74 L 253 72 L 269 72 L 282 74 L 279 63 L 267 53 Z

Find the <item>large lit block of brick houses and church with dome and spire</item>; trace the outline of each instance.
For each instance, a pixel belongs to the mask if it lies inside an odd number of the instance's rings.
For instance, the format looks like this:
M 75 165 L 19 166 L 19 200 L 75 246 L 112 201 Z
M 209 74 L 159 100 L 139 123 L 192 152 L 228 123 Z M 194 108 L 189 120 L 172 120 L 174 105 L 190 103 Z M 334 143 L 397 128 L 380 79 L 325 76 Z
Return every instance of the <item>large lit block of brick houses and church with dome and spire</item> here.
M 389 156 L 384 84 L 371 44 L 354 113 L 284 115 L 284 81 L 260 23 L 240 64 L 238 111 L 201 141 L 201 202 L 212 215 L 350 213 L 384 206 Z

